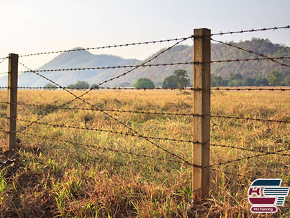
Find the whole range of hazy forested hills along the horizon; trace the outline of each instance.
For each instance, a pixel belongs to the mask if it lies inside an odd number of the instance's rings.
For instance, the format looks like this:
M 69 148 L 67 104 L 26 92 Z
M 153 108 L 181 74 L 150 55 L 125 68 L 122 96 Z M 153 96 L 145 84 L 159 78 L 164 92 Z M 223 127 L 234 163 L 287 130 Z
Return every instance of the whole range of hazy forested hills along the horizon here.
M 250 41 L 233 43 L 236 46 L 246 48 L 257 53 L 262 53 L 269 57 L 290 56 L 290 47 L 280 44 L 273 44 L 269 39 L 251 39 Z M 156 55 L 153 54 L 151 57 Z M 151 57 L 148 57 L 150 59 Z M 226 46 L 224 44 L 211 44 L 211 60 L 235 60 L 259 57 L 253 53 L 240 51 L 237 48 Z M 147 59 L 147 60 L 148 60 Z M 191 62 L 193 60 L 192 46 L 175 46 L 169 51 L 160 55 L 157 59 L 150 62 L 151 64 L 173 63 L 173 62 Z M 290 65 L 290 60 L 279 60 L 284 64 Z M 140 64 L 142 61 L 130 59 L 126 60 L 122 57 L 114 55 L 93 55 L 88 51 L 77 51 L 72 53 L 63 53 L 58 55 L 47 64 L 39 69 L 61 69 L 61 68 L 86 68 L 93 66 L 121 66 Z M 152 66 L 142 67 L 128 73 L 128 75 L 106 83 L 107 86 L 119 86 L 124 82 L 129 82 L 131 85 L 138 78 L 150 78 L 155 84 L 161 84 L 164 78 L 171 75 L 176 69 L 184 69 L 189 73 L 189 78 L 192 80 L 192 65 L 180 66 Z M 240 73 L 242 78 L 260 78 L 269 75 L 272 70 L 276 70 L 282 74 L 283 78 L 290 75 L 289 67 L 280 66 L 269 60 L 248 61 L 248 62 L 222 62 L 211 64 L 211 73 L 215 76 L 228 77 L 231 73 Z M 113 70 L 93 70 L 93 71 L 69 71 L 69 72 L 43 72 L 51 80 L 61 84 L 68 85 L 84 80 L 89 84 L 98 84 L 104 80 L 112 78 L 115 75 L 122 74 L 128 69 L 113 69 Z M 48 81 L 39 78 L 33 73 L 24 73 L 19 75 L 19 86 L 43 86 Z M 6 86 L 7 77 L 0 78 L 0 85 Z

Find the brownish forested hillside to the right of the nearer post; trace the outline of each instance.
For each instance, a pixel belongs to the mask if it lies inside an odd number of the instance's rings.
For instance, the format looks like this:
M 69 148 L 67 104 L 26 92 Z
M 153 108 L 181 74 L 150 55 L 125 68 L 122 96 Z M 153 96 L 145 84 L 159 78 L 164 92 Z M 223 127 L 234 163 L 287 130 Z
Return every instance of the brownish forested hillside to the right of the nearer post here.
M 269 39 L 251 39 L 251 41 L 233 43 L 235 46 L 246 48 L 250 51 L 255 51 L 266 55 L 267 57 L 284 57 L 290 56 L 290 47 L 282 46 L 280 44 L 273 44 Z M 259 57 L 253 53 L 240 51 L 237 48 L 222 44 L 212 44 L 211 46 L 211 60 L 234 60 L 247 59 Z M 290 60 L 278 60 L 284 64 L 290 64 Z M 229 73 L 240 73 L 244 78 L 256 78 L 269 75 L 270 71 L 276 70 L 282 75 L 290 74 L 289 67 L 280 66 L 279 64 L 270 60 L 265 61 L 249 61 L 249 62 L 232 62 L 212 64 L 211 73 L 215 75 L 226 76 Z

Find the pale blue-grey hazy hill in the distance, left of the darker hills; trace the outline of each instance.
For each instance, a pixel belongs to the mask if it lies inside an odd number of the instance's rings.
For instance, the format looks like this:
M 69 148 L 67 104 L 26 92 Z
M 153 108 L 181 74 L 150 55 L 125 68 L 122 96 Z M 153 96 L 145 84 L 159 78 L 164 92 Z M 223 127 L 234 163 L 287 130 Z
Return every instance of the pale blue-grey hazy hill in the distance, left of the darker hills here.
M 77 48 L 72 48 L 77 49 Z M 117 66 L 128 65 L 139 62 L 136 59 L 124 59 L 115 55 L 93 55 L 88 51 L 76 51 L 71 53 L 62 53 L 58 55 L 50 62 L 44 64 L 37 70 L 42 69 L 71 69 L 71 68 L 88 68 L 93 66 Z M 55 72 L 42 72 L 41 75 L 45 75 L 50 80 L 67 86 L 77 82 L 78 80 L 85 80 L 92 84 L 93 77 L 99 73 L 104 74 L 108 70 L 101 71 L 55 71 Z M 19 73 L 18 85 L 19 87 L 42 87 L 47 84 L 48 81 L 35 75 L 34 73 Z M 7 76 L 0 78 L 0 84 L 7 85 Z

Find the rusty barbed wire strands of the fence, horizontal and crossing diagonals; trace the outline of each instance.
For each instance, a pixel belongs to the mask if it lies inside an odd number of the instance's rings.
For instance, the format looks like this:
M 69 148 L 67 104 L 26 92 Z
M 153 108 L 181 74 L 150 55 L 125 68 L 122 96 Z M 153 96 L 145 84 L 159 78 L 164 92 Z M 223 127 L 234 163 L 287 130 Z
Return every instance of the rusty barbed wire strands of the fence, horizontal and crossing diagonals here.
M 226 32 L 226 33 L 213 33 L 211 35 L 205 35 L 204 37 L 213 37 L 215 35 L 226 35 L 226 34 L 235 34 L 235 33 L 252 33 L 252 32 L 258 32 L 258 31 L 266 31 L 266 30 L 281 30 L 281 29 L 289 29 L 290 26 L 281 26 L 281 27 L 273 27 L 273 28 L 260 28 L 260 29 L 252 29 L 252 30 L 240 30 L 240 31 L 232 31 L 232 32 Z M 244 156 L 242 158 L 235 158 L 233 160 L 229 160 L 229 161 L 222 161 L 219 163 L 213 163 L 211 165 L 197 165 L 195 163 L 193 163 L 192 161 L 186 160 L 184 157 L 175 154 L 174 152 L 171 152 L 170 150 L 166 149 L 165 147 L 162 147 L 161 145 L 159 145 L 159 143 L 156 143 L 155 140 L 165 140 L 165 141 L 175 141 L 175 142 L 180 142 L 180 143 L 193 143 L 193 144 L 200 144 L 202 145 L 202 147 L 206 147 L 206 143 L 204 142 L 199 142 L 198 140 L 187 140 L 187 139 L 180 139 L 180 138 L 159 138 L 159 137 L 152 137 L 152 136 L 144 136 L 143 134 L 140 134 L 139 131 L 136 131 L 135 129 L 133 129 L 133 127 L 127 125 L 125 122 L 122 122 L 121 120 L 119 120 L 119 118 L 116 118 L 115 116 L 111 115 L 108 112 L 117 112 L 117 113 L 142 113 L 142 114 L 151 114 L 151 115 L 159 115 L 159 116 L 189 116 L 189 117 L 205 117 L 205 116 L 209 116 L 211 118 L 222 118 L 222 119 L 235 119 L 235 120 L 253 120 L 255 122 L 276 122 L 276 123 L 283 123 L 283 124 L 289 124 L 290 121 L 289 120 L 271 120 L 271 119 L 266 119 L 266 118 L 250 118 L 250 117 L 238 117 L 238 116 L 224 116 L 224 115 L 219 115 L 219 114 L 200 114 L 200 113 L 166 113 L 166 112 L 158 112 L 158 111 L 133 111 L 133 110 L 120 110 L 120 109 L 102 109 L 99 108 L 95 105 L 93 105 L 92 103 L 88 102 L 88 100 L 84 100 L 84 96 L 86 96 L 88 93 L 90 93 L 93 90 L 99 90 L 99 89 L 105 89 L 105 90 L 143 90 L 143 91 L 150 91 L 150 90 L 160 90 L 160 91 L 168 91 L 168 90 L 184 90 L 184 91 L 205 91 L 208 93 L 211 93 L 211 91 L 290 91 L 289 88 L 228 88 L 228 87 L 213 87 L 211 89 L 201 89 L 201 88 L 182 88 L 182 89 L 176 89 L 176 88 L 152 88 L 152 89 L 136 89 L 136 88 L 132 88 L 132 87 L 101 87 L 102 85 L 106 84 L 107 82 L 111 82 L 113 80 L 116 80 L 118 78 L 122 78 L 125 75 L 128 75 L 130 73 L 132 73 L 133 71 L 135 71 L 136 69 L 139 68 L 144 68 L 144 67 L 151 67 L 151 66 L 182 66 L 182 65 L 193 65 L 193 66 L 202 66 L 202 64 L 205 64 L 204 62 L 171 62 L 171 63 L 162 63 L 162 64 L 151 64 L 151 62 L 155 59 L 157 59 L 157 57 L 160 57 L 160 55 L 166 53 L 166 51 L 171 50 L 171 48 L 174 48 L 175 46 L 177 46 L 178 44 L 186 41 L 187 39 L 195 39 L 195 38 L 200 38 L 199 36 L 196 35 L 191 35 L 189 37 L 182 37 L 182 38 L 176 38 L 176 39 L 163 39 L 163 40 L 157 40 L 157 41 L 149 41 L 149 42 L 137 42 L 137 43 L 130 43 L 130 44 L 119 44 L 119 45 L 112 45 L 112 46 L 99 46 L 99 47 L 92 47 L 92 48 L 77 48 L 77 49 L 72 49 L 72 50 L 64 50 L 64 51 L 49 51 L 49 52 L 39 52 L 39 53 L 31 53 L 31 54 L 26 54 L 26 55 L 19 55 L 19 57 L 30 57 L 30 56 L 34 56 L 34 55 L 46 55 L 46 54 L 55 54 L 55 53 L 68 53 L 68 52 L 76 52 L 76 51 L 88 51 L 88 50 L 95 50 L 95 49 L 102 49 L 102 48 L 116 48 L 116 47 L 122 47 L 122 46 L 137 46 L 137 45 L 141 45 L 141 44 L 156 44 L 156 43 L 163 43 L 163 42 L 175 42 L 175 44 L 173 44 L 172 46 L 169 46 L 168 48 L 160 51 L 159 53 L 157 53 L 157 55 L 154 55 L 153 57 L 151 57 L 149 60 L 146 60 L 144 62 L 142 62 L 141 64 L 137 64 L 137 65 L 124 65 L 124 66 L 95 66 L 95 67 L 89 67 L 89 68 L 71 68 L 71 69 L 43 69 L 43 70 L 32 70 L 30 69 L 28 66 L 26 66 L 26 64 L 23 64 L 22 62 L 19 62 L 19 64 L 21 64 L 21 66 L 23 66 L 24 68 L 26 68 L 26 71 L 18 71 L 17 73 L 34 73 L 35 75 L 38 75 L 39 77 L 43 78 L 44 80 L 47 80 L 48 82 L 51 82 L 52 84 L 55 84 L 56 87 L 51 87 L 51 88 L 46 88 L 46 87 L 16 87 L 17 89 L 62 89 L 64 91 L 66 91 L 67 93 L 70 94 L 70 96 L 72 96 L 72 99 L 64 102 L 61 105 L 50 105 L 49 107 L 47 107 L 46 105 L 36 105 L 36 104 L 28 104 L 25 102 L 11 102 L 11 101 L 3 101 L 0 102 L 0 104 L 2 105 L 23 105 L 26 107 L 39 107 L 39 108 L 44 108 L 46 109 L 45 113 L 42 116 L 39 116 L 39 118 L 37 118 L 36 120 L 26 120 L 26 119 L 21 119 L 21 118 L 12 118 L 10 116 L 0 116 L 0 118 L 5 118 L 7 120 L 18 120 L 21 122 L 28 122 L 28 125 L 25 125 L 23 127 L 21 127 L 20 129 L 16 130 L 16 128 L 13 131 L 13 134 L 25 134 L 28 136 L 35 136 L 35 137 L 39 137 L 39 138 L 43 138 L 45 140 L 52 140 L 52 141 L 56 141 L 59 143 L 75 143 L 72 142 L 70 140 L 59 140 L 57 138 L 51 138 L 48 136 L 41 136 L 40 134 L 30 134 L 28 132 L 26 132 L 26 129 L 28 129 L 28 127 L 31 127 L 32 125 L 45 125 L 48 127 L 59 127 L 59 128 L 68 128 L 68 129 L 82 129 L 82 130 L 88 130 L 88 131 L 104 131 L 104 132 L 108 132 L 110 134 L 119 134 L 122 136 L 133 136 L 133 137 L 137 137 L 137 138 L 142 138 L 143 140 L 145 140 L 147 143 L 150 143 L 151 145 L 157 147 L 157 149 L 161 149 L 163 152 L 165 152 L 166 154 L 168 154 L 169 156 L 171 156 L 171 158 L 160 158 L 158 156 L 150 156 L 150 155 L 146 155 L 146 154 L 137 154 L 135 152 L 130 152 L 130 151 L 124 151 L 124 150 L 120 150 L 120 149 L 111 149 L 108 147 L 101 147 L 99 145 L 88 145 L 88 144 L 84 144 L 84 143 L 77 143 L 77 145 L 81 145 L 81 146 L 86 146 L 86 147 L 94 147 L 96 149 L 102 149 L 104 151 L 110 151 L 110 152 L 116 152 L 116 153 L 122 153 L 122 154 L 129 154 L 129 155 L 134 155 L 134 156 L 140 156 L 140 157 L 144 157 L 144 158 L 155 158 L 155 159 L 160 159 L 163 161 L 171 161 L 173 163 L 180 163 L 180 164 L 184 164 L 184 165 L 189 165 L 191 167 L 196 167 L 199 169 L 211 169 L 214 171 L 218 171 L 218 172 L 222 172 L 224 174 L 233 174 L 235 176 L 242 176 L 248 179 L 253 179 L 253 177 L 251 176 L 247 176 L 247 175 L 242 175 L 242 174 L 235 174 L 234 172 L 227 172 L 227 171 L 223 171 L 220 170 L 216 167 L 219 167 L 221 165 L 226 165 L 229 163 L 235 163 L 238 161 L 242 161 L 242 160 L 249 160 L 249 159 L 253 159 L 253 158 L 258 158 L 261 156 L 269 156 L 269 155 L 278 155 L 278 156 L 290 156 L 290 154 L 284 153 L 289 151 L 290 146 L 289 145 L 285 145 L 284 149 L 276 149 L 273 151 L 264 151 L 264 150 L 259 150 L 259 149 L 249 149 L 249 148 L 245 148 L 245 147 L 238 147 L 238 146 L 234 146 L 234 145 L 219 145 L 219 144 L 215 144 L 215 143 L 209 143 L 210 146 L 213 147 L 224 147 L 224 148 L 228 148 L 228 149 L 238 149 L 238 150 L 243 150 L 243 151 L 247 151 L 247 152 L 256 152 L 258 154 L 255 155 L 251 155 L 251 156 Z M 248 59 L 236 59 L 236 60 L 213 60 L 210 61 L 207 64 L 211 64 L 211 63 L 220 63 L 220 62 L 249 62 L 249 61 L 260 61 L 260 60 L 267 60 L 267 61 L 271 61 L 271 62 L 275 62 L 276 64 L 279 64 L 280 66 L 283 67 L 290 67 L 288 64 L 284 64 L 278 60 L 289 60 L 290 57 L 289 56 L 284 56 L 284 57 L 268 57 L 267 55 L 263 55 L 261 53 L 257 53 L 255 51 L 250 51 L 248 49 L 242 48 L 240 46 L 236 46 L 234 44 L 229 44 L 226 42 L 222 42 L 220 40 L 216 40 L 213 38 L 210 38 L 210 41 L 212 42 L 217 42 L 220 44 L 224 44 L 226 46 L 231 46 L 233 48 L 237 48 L 240 51 L 245 51 L 247 53 L 252 53 L 254 55 L 258 55 L 259 57 L 255 57 L 255 58 L 248 58 Z M 0 58 L 0 64 L 5 61 L 6 59 L 9 60 L 10 57 L 1 57 Z M 99 84 L 95 85 L 95 87 L 90 87 L 90 88 L 71 88 L 71 87 L 64 87 L 61 86 L 60 84 L 58 84 L 57 82 L 50 80 L 49 78 L 47 78 L 45 75 L 42 75 L 41 73 L 45 73 L 45 72 L 55 72 L 55 71 L 90 71 L 90 70 L 99 70 L 99 69 L 127 69 L 127 71 L 124 71 L 124 73 L 121 73 L 119 75 L 116 75 L 113 78 L 110 78 L 108 80 L 104 80 L 103 82 L 99 82 Z M 0 74 L 9 74 L 12 72 L 2 72 Z M 10 87 L 8 85 L 8 87 L 0 87 L 0 89 L 12 89 L 12 87 Z M 75 94 L 74 92 L 72 92 L 73 90 L 83 90 L 84 93 L 81 93 L 79 96 L 77 96 L 77 94 Z M 68 105 L 70 105 L 70 103 L 74 102 L 75 100 L 80 100 L 81 102 L 84 102 L 84 104 L 88 105 L 90 108 L 84 108 L 84 107 L 68 107 Z M 77 127 L 77 126 L 72 126 L 72 125 L 57 125 L 55 123 L 48 123 L 48 122 L 41 122 L 40 120 L 43 119 L 44 117 L 48 116 L 49 113 L 52 113 L 53 111 L 57 111 L 57 110 L 83 110 L 83 111 L 99 111 L 101 113 L 104 114 L 104 116 L 107 116 L 108 118 L 114 120 L 115 122 L 117 122 L 119 125 L 122 125 L 126 130 L 128 131 L 113 131 L 111 129 L 97 129 L 97 128 L 88 128 L 88 127 Z M 12 131 L 6 131 L 5 129 L 1 128 L 0 129 L 1 132 L 5 133 L 5 134 L 11 134 Z M 209 149 L 209 147 L 206 147 L 206 149 Z

